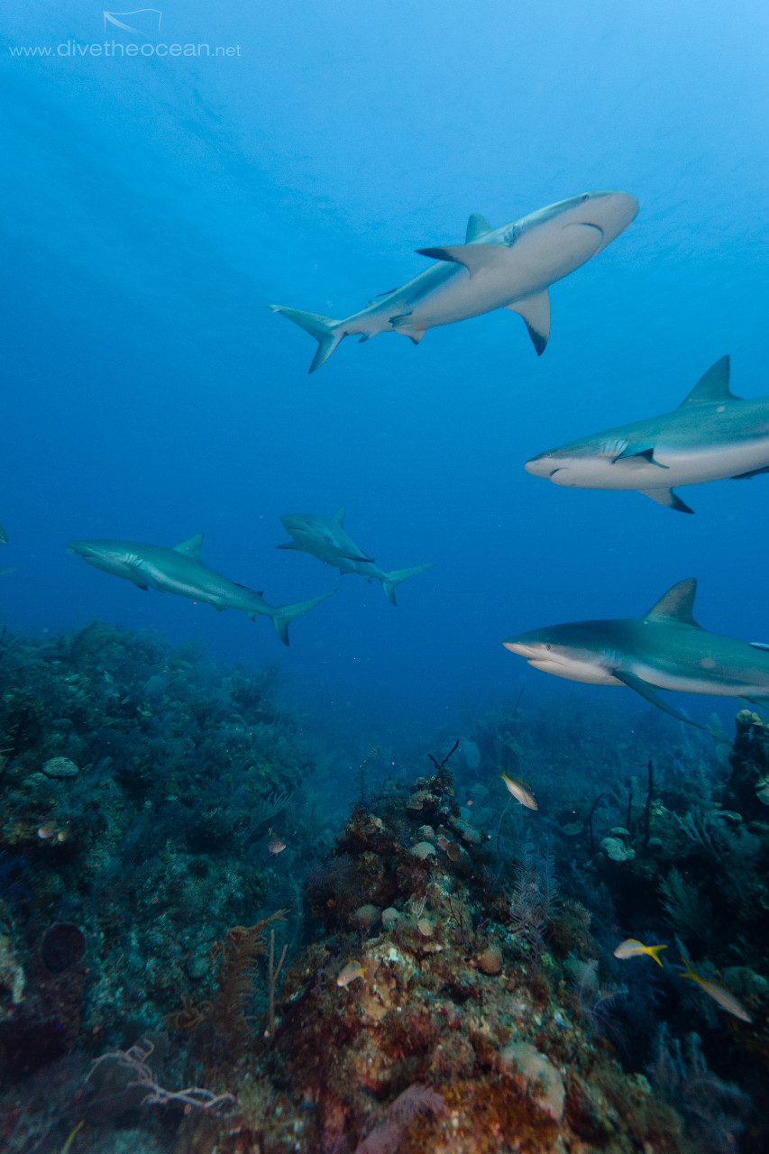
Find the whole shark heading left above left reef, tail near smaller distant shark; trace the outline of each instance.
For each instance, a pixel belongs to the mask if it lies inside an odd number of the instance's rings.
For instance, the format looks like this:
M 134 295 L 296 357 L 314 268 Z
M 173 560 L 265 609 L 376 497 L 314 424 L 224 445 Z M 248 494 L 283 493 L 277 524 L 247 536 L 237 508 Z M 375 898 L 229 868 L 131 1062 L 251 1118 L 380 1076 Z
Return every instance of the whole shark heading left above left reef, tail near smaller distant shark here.
M 202 544 L 203 534 L 196 533 L 173 548 L 141 541 L 107 540 L 67 541 L 67 548 L 80 554 L 89 565 L 114 577 L 125 577 L 140 589 L 155 589 L 159 593 L 178 593 L 194 601 L 206 601 L 221 613 L 224 609 L 241 609 L 252 621 L 259 616 L 269 617 L 284 645 L 289 644 L 289 624 L 336 592 L 331 590 L 331 593 L 293 605 L 268 605 L 261 592 L 238 585 L 204 564 L 200 560 Z

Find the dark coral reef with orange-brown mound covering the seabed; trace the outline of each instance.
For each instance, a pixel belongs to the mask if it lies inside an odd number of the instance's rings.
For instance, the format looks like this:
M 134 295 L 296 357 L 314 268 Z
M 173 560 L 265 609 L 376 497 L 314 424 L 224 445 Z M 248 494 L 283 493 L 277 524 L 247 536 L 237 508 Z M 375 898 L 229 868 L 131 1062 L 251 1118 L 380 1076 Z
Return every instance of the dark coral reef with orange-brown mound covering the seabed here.
M 445 755 L 331 756 L 278 681 L 98 622 L 0 638 L 3 1148 L 766 1148 L 755 713 L 731 743 L 518 697 Z

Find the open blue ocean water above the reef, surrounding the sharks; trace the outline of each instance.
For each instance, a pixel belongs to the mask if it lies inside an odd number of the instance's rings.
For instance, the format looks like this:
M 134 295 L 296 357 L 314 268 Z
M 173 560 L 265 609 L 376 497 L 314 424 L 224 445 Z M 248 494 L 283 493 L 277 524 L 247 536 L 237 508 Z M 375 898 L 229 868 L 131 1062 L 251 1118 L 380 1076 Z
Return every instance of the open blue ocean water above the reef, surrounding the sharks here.
M 684 517 L 523 470 L 675 407 L 724 353 L 737 395 L 767 391 L 764 6 L 194 0 L 159 30 L 154 12 L 142 44 L 211 54 L 94 54 L 126 39 L 100 7 L 3 17 L 8 627 L 160 627 L 222 659 L 281 657 L 328 709 L 423 719 L 527 675 L 529 695 L 574 692 L 502 638 L 635 615 L 686 576 L 705 627 L 766 638 L 766 479 L 687 489 Z M 500 312 L 419 347 L 348 340 L 308 377 L 313 343 L 263 307 L 346 316 L 418 272 L 415 249 L 461 242 L 470 212 L 499 225 L 592 188 L 641 212 L 554 286 L 542 359 Z M 435 562 L 397 609 L 275 550 L 279 515 L 342 504 L 383 568 Z M 266 620 L 65 552 L 201 531 L 203 559 L 272 604 L 339 591 L 284 653 Z

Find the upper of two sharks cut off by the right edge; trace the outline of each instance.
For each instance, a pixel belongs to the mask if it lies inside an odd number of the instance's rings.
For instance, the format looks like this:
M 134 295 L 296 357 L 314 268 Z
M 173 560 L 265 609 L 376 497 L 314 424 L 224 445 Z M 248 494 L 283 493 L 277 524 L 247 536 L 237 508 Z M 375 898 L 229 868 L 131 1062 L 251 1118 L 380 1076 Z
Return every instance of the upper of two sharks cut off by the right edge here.
M 729 357 L 722 357 L 672 413 L 569 441 L 524 467 L 553 485 L 637 489 L 669 509 L 694 512 L 674 485 L 769 472 L 769 397 L 736 397 Z

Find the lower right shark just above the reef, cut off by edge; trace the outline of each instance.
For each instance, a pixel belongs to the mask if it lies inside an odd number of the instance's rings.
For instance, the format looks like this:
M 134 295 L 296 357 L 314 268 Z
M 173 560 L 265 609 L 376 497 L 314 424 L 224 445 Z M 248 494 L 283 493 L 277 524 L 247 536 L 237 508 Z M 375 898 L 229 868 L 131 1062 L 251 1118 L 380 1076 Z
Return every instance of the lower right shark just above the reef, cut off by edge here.
M 689 725 L 697 722 L 658 697 L 658 689 L 745 697 L 769 709 L 769 645 L 702 629 L 692 616 L 695 592 L 696 580 L 687 577 L 643 617 L 574 621 L 518 634 L 503 644 L 557 677 L 627 685 Z

